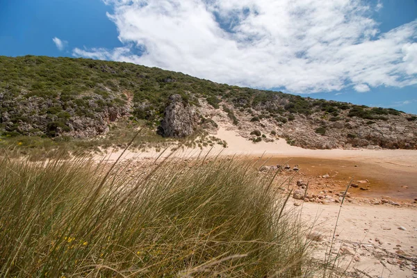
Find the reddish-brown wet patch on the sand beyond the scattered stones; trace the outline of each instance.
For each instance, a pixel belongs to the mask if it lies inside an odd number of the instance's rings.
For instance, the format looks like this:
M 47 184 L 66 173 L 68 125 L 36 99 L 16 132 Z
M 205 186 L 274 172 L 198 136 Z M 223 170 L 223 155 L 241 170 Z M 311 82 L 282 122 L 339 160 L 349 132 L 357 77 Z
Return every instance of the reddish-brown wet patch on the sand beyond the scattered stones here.
M 256 161 L 259 158 L 254 158 Z M 267 161 L 261 159 L 258 165 Z M 352 160 L 338 160 L 329 158 L 269 158 L 265 165 L 283 165 L 287 163 L 299 165 L 300 173 L 295 179 L 303 179 L 304 175 L 312 177 L 313 182 L 321 185 L 329 185 L 329 190 L 344 190 L 345 186 L 353 179 L 352 183 L 357 183 L 359 188 L 350 188 L 349 192 L 355 197 L 382 198 L 389 196 L 395 200 L 410 202 L 417 198 L 417 175 L 411 168 L 386 169 L 378 163 L 355 162 Z M 329 179 L 321 176 L 329 174 Z M 367 183 L 358 181 L 368 180 Z M 361 190 L 360 188 L 368 190 Z M 405 188 L 407 187 L 407 188 Z

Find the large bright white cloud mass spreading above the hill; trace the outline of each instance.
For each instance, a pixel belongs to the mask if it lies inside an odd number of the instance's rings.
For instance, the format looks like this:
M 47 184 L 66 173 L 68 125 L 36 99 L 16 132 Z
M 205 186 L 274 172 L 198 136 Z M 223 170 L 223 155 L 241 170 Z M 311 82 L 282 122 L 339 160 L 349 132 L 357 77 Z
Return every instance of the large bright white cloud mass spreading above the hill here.
M 124 47 L 74 56 L 290 92 L 417 83 L 417 20 L 379 33 L 372 16 L 382 6 L 368 1 L 104 1 Z

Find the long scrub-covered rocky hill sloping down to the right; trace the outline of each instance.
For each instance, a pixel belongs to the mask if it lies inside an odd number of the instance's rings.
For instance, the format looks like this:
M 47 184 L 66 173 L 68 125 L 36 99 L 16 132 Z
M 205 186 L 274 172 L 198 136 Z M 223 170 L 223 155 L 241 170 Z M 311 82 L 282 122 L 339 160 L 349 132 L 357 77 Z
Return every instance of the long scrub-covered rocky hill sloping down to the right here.
M 417 148 L 417 117 L 392 108 L 240 88 L 131 63 L 0 56 L 0 65 L 3 138 L 94 138 L 120 119 L 166 136 L 170 96 L 179 95 L 192 130 L 215 131 L 216 119 L 226 117 L 254 142 L 279 136 L 306 148 Z

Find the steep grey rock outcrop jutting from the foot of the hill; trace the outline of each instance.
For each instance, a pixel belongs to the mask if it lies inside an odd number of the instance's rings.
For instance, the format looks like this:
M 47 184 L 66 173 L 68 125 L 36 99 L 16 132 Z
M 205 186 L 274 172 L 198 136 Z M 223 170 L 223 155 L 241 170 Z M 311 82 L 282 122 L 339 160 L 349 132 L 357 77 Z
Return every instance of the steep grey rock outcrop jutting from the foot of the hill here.
M 181 138 L 189 136 L 194 131 L 195 112 L 190 104 L 184 104 L 180 95 L 172 95 L 170 104 L 165 108 L 160 130 L 164 137 Z

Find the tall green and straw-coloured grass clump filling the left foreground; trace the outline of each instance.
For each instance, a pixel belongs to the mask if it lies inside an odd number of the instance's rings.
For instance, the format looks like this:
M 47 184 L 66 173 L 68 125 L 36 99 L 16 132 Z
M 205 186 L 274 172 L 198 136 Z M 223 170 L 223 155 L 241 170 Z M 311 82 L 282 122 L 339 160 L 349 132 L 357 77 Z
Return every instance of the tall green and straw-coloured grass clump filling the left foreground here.
M 236 160 L 0 161 L 1 277 L 305 277 L 300 218 Z M 308 231 L 308 229 L 306 229 Z

